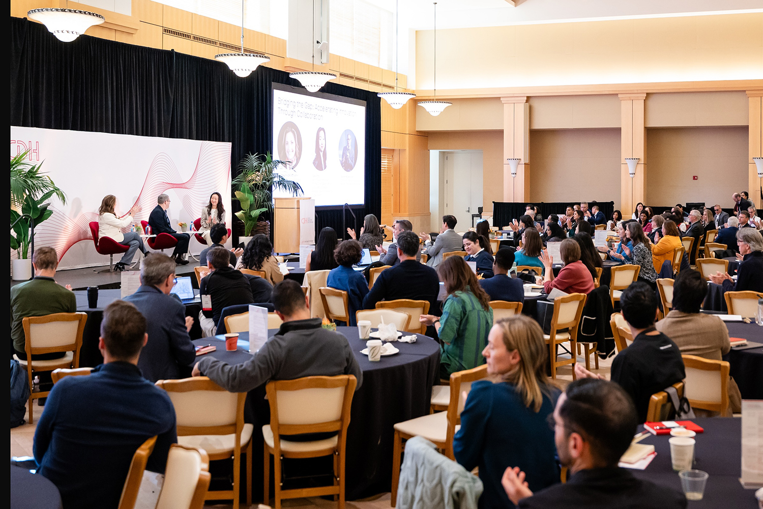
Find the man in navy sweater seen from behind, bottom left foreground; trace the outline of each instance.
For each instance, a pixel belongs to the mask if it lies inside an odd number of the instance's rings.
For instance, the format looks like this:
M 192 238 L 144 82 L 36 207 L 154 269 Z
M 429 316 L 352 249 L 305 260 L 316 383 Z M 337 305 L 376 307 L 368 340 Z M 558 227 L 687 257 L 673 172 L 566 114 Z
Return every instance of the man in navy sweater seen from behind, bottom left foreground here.
M 114 301 L 103 313 L 98 348 L 104 363 L 88 376 L 56 382 L 34 433 L 34 459 L 59 489 L 64 509 L 116 509 L 135 450 L 156 438 L 146 469 L 164 472 L 177 442 L 175 408 L 140 376 L 146 319 Z

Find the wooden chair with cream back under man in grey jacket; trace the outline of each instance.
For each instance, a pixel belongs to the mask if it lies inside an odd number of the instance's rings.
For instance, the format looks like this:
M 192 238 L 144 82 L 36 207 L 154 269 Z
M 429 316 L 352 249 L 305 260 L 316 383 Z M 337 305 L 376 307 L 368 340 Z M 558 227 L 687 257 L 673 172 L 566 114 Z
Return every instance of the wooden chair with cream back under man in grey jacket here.
M 307 376 L 295 380 L 273 380 L 266 385 L 270 404 L 270 424 L 262 427 L 264 439 L 264 502 L 270 503 L 270 456 L 273 457 L 275 509 L 284 498 L 337 495 L 338 507 L 345 507 L 345 453 L 350 408 L 357 380 L 354 375 Z M 323 440 L 294 442 L 282 435 L 337 434 Z M 333 483 L 310 488 L 282 488 L 282 461 L 285 458 L 333 456 Z

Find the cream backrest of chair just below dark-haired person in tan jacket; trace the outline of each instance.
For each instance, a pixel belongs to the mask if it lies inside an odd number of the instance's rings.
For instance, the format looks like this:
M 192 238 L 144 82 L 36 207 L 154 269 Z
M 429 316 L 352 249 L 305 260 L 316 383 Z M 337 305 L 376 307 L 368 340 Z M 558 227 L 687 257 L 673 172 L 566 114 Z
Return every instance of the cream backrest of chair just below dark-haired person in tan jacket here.
M 684 396 L 692 408 L 720 412 L 729 409 L 729 362 L 683 355 L 686 378 Z

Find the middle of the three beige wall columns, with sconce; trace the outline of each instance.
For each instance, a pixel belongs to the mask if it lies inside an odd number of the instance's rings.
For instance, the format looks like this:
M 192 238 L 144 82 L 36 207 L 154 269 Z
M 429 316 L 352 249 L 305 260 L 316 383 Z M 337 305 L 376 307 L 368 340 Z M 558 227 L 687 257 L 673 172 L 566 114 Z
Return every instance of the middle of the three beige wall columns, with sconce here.
M 646 94 L 620 94 L 620 210 L 630 217 L 635 205 L 645 201 L 646 128 L 644 100 Z M 628 172 L 626 157 L 638 157 L 636 176 Z M 617 208 L 617 204 L 615 204 Z

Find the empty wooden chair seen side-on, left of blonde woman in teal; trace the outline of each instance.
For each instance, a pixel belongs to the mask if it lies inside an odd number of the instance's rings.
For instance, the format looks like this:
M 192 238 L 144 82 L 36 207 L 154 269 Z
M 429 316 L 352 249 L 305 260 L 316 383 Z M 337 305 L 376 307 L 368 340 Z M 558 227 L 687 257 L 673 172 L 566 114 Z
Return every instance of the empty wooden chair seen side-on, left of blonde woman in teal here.
M 395 506 L 398 500 L 398 482 L 400 481 L 401 456 L 404 451 L 403 440 L 421 436 L 434 443 L 441 449 L 445 456 L 455 459 L 453 456 L 453 435 L 456 434 L 456 426 L 461 424 L 461 412 L 464 409 L 466 398 L 464 393 L 472 390 L 472 382 L 484 379 L 488 375 L 488 366 L 483 364 L 473 369 L 465 369 L 450 375 L 449 385 L 435 385 L 446 387 L 447 410 L 435 414 L 423 415 L 415 419 L 405 420 L 394 425 L 394 449 L 392 451 L 392 494 L 390 504 Z M 434 388 L 434 387 L 433 387 Z M 433 392 L 434 395 L 434 392 Z M 443 393 L 445 395 L 445 393 Z

